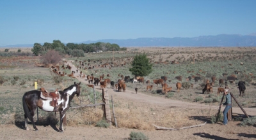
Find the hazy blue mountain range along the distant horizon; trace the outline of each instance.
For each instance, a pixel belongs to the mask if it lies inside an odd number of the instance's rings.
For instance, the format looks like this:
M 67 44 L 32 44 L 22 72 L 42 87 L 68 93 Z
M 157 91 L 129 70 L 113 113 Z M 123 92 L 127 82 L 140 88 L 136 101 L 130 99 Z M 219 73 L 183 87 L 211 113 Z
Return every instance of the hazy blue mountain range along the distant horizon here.
M 220 34 L 217 36 L 198 36 L 195 38 L 137 38 L 137 39 L 100 39 L 83 41 L 78 44 L 97 42 L 115 43 L 120 47 L 129 46 L 256 46 L 256 34 L 241 36 L 239 34 Z M 43 43 L 42 43 L 43 44 Z M 33 47 L 34 44 L 4 45 L 0 47 Z

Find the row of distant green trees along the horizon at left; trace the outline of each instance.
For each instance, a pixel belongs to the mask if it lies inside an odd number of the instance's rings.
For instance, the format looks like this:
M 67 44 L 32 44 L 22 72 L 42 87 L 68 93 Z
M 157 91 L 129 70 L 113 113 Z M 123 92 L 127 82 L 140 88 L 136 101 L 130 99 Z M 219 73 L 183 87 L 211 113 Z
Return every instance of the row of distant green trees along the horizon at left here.
M 35 43 L 32 52 L 34 55 L 44 55 L 49 50 L 56 50 L 62 54 L 72 55 L 73 57 L 83 57 L 84 53 L 88 52 L 97 52 L 97 51 L 119 51 L 119 50 L 127 50 L 127 48 L 120 48 L 117 44 L 111 43 L 91 43 L 91 44 L 76 44 L 76 43 L 61 43 L 60 40 L 54 40 L 52 43 L 44 43 L 41 45 L 40 43 Z

